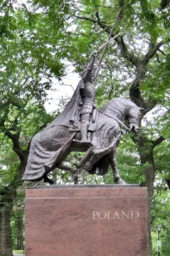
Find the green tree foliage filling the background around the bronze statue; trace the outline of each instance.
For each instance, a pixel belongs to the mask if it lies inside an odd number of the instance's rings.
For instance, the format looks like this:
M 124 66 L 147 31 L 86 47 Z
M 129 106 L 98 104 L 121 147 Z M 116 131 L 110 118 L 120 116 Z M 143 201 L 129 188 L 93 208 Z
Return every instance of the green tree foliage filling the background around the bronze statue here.
M 78 74 L 91 58 L 92 52 L 105 43 L 107 28 L 114 33 L 122 32 L 128 55 L 122 55 L 119 43 L 112 42 L 102 62 L 102 70 L 95 82 L 97 107 L 117 96 L 129 95 L 129 87 L 137 72 L 127 59 L 134 55 L 143 58 L 151 44 L 169 42 L 168 7 L 161 1 L 127 0 L 121 16 L 119 0 L 32 0 L 23 5 L 14 1 L 0 3 L 0 189 L 16 193 L 21 185 L 18 170 L 21 159 L 14 152 L 13 142 L 7 131 L 19 136 L 19 144 L 24 153 L 29 149 L 32 136 L 49 123 L 53 116 L 47 115 L 44 103 L 47 90 L 53 78 L 62 80 L 67 74 L 67 61 Z M 117 19 L 117 21 L 116 21 Z M 102 22 L 102 29 L 97 23 Z M 99 54 L 100 58 L 101 54 Z M 162 254 L 168 256 L 169 213 L 169 65 L 170 49 L 163 44 L 157 54 L 153 54 L 147 66 L 146 76 L 140 81 L 140 89 L 145 102 L 157 105 L 152 118 L 143 119 L 145 147 L 135 146 L 129 136 L 117 150 L 117 166 L 122 178 L 128 183 L 143 183 L 143 171 L 151 164 L 141 163 L 140 154 L 147 157 L 152 153 L 153 141 L 159 136 L 166 139 L 153 151 L 156 166 L 155 191 L 153 197 L 153 245 L 156 241 L 155 226 L 163 225 Z M 72 81 L 73 83 L 73 81 Z M 150 116 L 151 116 L 150 115 Z M 72 153 L 67 158 L 71 166 L 76 166 L 82 153 Z M 70 183 L 68 172 L 57 170 L 52 174 L 57 184 Z M 20 181 L 21 182 L 21 181 Z M 102 177 L 90 176 L 82 172 L 80 182 L 86 184 L 112 183 L 112 171 Z M 23 202 L 24 194 L 19 191 L 14 202 Z M 12 203 L 12 202 L 9 202 Z M 12 219 L 13 243 L 16 246 L 18 212 Z M 154 252 L 156 248 L 153 246 Z

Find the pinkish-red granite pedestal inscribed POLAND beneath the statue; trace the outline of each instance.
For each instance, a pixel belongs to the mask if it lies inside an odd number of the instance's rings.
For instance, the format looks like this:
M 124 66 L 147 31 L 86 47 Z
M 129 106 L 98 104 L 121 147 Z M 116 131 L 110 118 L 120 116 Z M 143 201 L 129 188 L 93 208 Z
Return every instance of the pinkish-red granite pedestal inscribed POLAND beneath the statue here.
M 26 191 L 26 256 L 147 256 L 147 189 Z

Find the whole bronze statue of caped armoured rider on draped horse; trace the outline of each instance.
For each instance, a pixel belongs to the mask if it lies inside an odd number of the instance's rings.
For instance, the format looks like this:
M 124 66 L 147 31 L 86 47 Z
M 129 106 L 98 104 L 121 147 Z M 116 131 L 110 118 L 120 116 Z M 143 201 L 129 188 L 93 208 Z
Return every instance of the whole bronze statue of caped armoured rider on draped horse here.
M 60 115 L 45 129 L 32 138 L 28 165 L 23 175 L 25 181 L 40 181 L 52 184 L 47 177 L 56 167 L 70 170 L 63 161 L 71 151 L 86 151 L 79 162 L 89 173 L 103 175 L 112 166 L 114 181 L 126 184 L 117 170 L 116 147 L 121 139 L 123 121 L 129 123 L 129 130 L 138 132 L 140 108 L 131 100 L 117 98 L 110 100 L 101 110 L 94 106 L 95 89 L 92 84 L 99 67 L 97 52 L 92 55 L 72 99 Z M 77 170 L 74 182 L 77 183 Z

